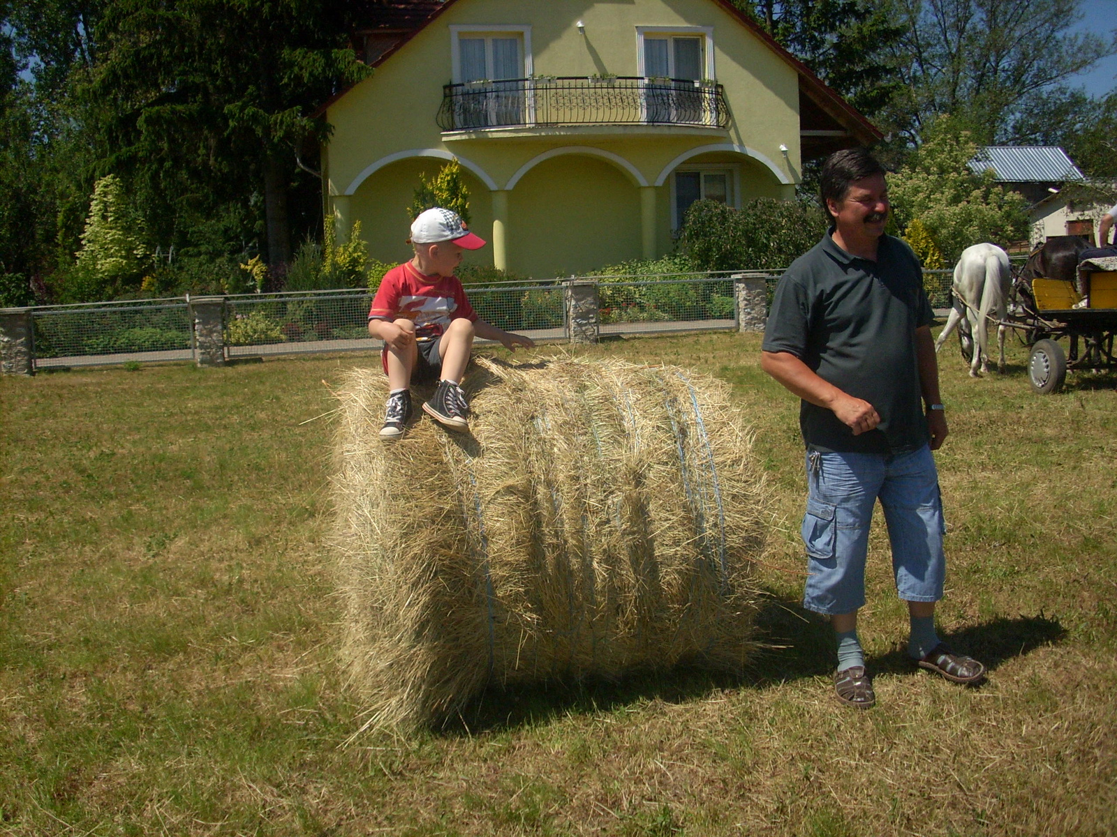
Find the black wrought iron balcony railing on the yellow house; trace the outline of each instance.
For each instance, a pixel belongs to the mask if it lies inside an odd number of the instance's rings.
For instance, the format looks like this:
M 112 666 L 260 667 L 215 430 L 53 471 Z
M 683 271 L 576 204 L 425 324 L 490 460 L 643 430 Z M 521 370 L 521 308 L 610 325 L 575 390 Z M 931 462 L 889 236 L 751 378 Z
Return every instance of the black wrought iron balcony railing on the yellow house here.
M 442 131 L 558 125 L 685 125 L 726 128 L 722 85 L 679 78 L 575 76 L 446 85 Z

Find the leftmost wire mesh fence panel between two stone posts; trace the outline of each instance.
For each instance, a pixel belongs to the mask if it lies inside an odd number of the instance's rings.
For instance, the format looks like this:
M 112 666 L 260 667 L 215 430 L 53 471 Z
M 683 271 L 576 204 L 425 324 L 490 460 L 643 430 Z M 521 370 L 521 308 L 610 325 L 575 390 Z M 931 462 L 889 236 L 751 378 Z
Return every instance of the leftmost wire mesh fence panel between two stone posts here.
M 193 327 L 185 299 L 42 306 L 32 310 L 31 321 L 39 367 L 83 359 L 121 363 L 136 354 L 163 360 L 192 357 Z

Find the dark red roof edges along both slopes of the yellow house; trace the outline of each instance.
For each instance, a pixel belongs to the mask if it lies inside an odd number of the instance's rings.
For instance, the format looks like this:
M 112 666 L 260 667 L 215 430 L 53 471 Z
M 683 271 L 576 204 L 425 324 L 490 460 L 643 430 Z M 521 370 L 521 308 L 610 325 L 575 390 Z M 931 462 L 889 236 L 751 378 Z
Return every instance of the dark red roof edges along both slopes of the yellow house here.
M 401 32 L 400 40 L 371 62 L 372 67 L 379 67 L 395 55 L 411 38 L 426 29 L 446 9 L 458 2 L 458 0 L 365 0 L 365 2 L 366 15 L 363 17 L 369 21 L 369 26 L 359 26 L 359 31 L 379 30 L 384 32 Z M 786 64 L 791 65 L 799 74 L 800 97 L 802 98 L 805 94 L 824 114 L 849 129 L 857 142 L 868 145 L 884 136 L 876 125 L 865 118 L 834 89 L 814 75 L 805 64 L 784 49 L 775 38 L 764 31 L 755 20 L 735 7 L 729 0 L 710 0 L 710 2 L 717 3 L 728 15 L 736 18 L 742 26 L 762 40 Z M 324 116 L 326 108 L 351 89 L 352 86 L 338 90 L 324 102 L 314 112 L 313 116 Z

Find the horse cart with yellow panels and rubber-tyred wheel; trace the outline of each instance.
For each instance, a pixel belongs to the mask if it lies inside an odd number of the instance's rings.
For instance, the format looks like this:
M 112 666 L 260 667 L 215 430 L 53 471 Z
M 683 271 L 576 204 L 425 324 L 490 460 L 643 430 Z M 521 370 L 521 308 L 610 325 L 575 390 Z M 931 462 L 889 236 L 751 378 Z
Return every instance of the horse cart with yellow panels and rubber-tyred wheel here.
M 1035 392 L 1059 392 L 1069 369 L 1117 368 L 1117 258 L 1081 262 L 1077 281 L 1018 276 L 1012 290 L 1008 319 L 999 325 L 1031 346 L 1028 377 Z

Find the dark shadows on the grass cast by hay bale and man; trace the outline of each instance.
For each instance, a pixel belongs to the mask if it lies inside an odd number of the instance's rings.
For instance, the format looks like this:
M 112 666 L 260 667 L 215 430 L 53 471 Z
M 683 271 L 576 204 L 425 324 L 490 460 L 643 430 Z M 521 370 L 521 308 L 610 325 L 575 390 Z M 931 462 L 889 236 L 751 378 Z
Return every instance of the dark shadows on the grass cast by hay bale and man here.
M 995 671 L 1005 660 L 1060 642 L 1066 633 L 1058 619 L 1041 613 L 996 618 L 944 634 L 942 639 Z M 493 686 L 439 734 L 454 738 L 534 727 L 564 715 L 617 712 L 652 700 L 687 703 L 728 689 L 764 690 L 789 681 L 827 676 L 833 671 L 833 634 L 829 623 L 804 610 L 795 600 L 771 594 L 764 597 L 757 616 L 757 642 L 760 647 L 741 675 L 679 666 L 670 672 L 636 673 L 618 681 Z M 875 674 L 916 672 L 903 647 L 867 662 Z

